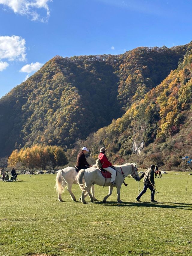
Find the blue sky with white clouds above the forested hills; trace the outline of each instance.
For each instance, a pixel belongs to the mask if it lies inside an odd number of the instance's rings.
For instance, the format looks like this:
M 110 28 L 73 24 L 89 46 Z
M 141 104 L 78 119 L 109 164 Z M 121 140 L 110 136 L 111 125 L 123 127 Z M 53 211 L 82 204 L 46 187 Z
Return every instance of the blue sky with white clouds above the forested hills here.
M 192 2 L 0 0 L 0 97 L 55 55 L 187 44 Z

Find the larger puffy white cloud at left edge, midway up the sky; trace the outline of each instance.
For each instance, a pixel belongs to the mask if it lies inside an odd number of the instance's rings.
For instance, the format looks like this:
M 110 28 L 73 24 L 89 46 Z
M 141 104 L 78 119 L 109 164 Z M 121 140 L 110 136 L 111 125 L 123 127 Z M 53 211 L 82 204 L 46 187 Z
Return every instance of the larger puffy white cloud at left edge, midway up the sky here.
M 0 0 L 2 1 L 2 0 Z M 25 39 L 20 36 L 0 36 L 0 60 L 26 60 Z

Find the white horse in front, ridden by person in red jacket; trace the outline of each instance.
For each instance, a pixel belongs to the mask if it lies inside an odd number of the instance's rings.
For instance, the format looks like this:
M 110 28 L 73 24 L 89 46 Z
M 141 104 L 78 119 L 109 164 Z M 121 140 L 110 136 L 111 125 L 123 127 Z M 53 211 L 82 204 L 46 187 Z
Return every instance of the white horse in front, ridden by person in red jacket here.
M 120 190 L 121 185 L 124 182 L 126 176 L 131 175 L 135 180 L 139 180 L 138 169 L 136 167 L 137 164 L 123 164 L 120 166 L 114 166 L 117 170 L 117 176 L 115 179 L 116 188 L 117 188 L 117 201 L 119 203 L 123 203 L 120 200 Z M 77 183 L 82 190 L 81 202 L 85 202 L 85 192 L 88 193 L 91 202 L 94 201 L 94 198 L 91 196 L 90 188 L 92 184 L 97 184 L 99 186 L 109 186 L 109 194 L 104 197 L 103 202 L 106 203 L 107 198 L 112 194 L 114 185 L 110 183 L 111 179 L 105 179 L 101 174 L 101 171 L 97 168 L 90 167 L 86 170 L 80 170 L 77 175 Z

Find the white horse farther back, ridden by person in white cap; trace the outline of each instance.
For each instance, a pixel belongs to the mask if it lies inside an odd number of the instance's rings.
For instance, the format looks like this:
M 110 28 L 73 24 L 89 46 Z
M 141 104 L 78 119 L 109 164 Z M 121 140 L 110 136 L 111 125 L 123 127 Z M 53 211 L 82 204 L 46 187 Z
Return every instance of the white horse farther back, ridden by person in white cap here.
M 56 176 L 56 184 L 55 184 L 55 189 L 57 191 L 58 194 L 58 200 L 60 202 L 63 202 L 62 198 L 61 198 L 61 194 L 64 192 L 65 187 L 67 186 L 67 190 L 69 191 L 69 194 L 71 196 L 71 199 L 73 201 L 76 201 L 76 198 L 73 194 L 73 192 L 71 191 L 72 185 L 73 184 L 77 184 L 77 172 L 75 170 L 75 168 L 73 167 L 66 167 L 62 170 L 59 170 Z M 94 185 L 91 186 L 91 194 L 93 197 L 94 201 L 97 201 L 97 199 L 94 196 Z M 85 194 L 85 197 L 88 194 Z

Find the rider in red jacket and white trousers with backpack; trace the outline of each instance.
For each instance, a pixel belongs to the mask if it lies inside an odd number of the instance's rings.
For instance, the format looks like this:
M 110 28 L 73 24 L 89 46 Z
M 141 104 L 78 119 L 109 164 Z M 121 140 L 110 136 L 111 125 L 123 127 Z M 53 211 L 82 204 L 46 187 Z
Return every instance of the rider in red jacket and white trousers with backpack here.
M 116 185 L 115 183 L 116 170 L 112 168 L 112 163 L 110 163 L 110 161 L 107 159 L 107 156 L 105 155 L 105 150 L 106 150 L 105 148 L 100 149 L 100 154 L 98 156 L 98 159 L 102 164 L 102 168 L 111 173 L 110 183 L 113 185 Z

